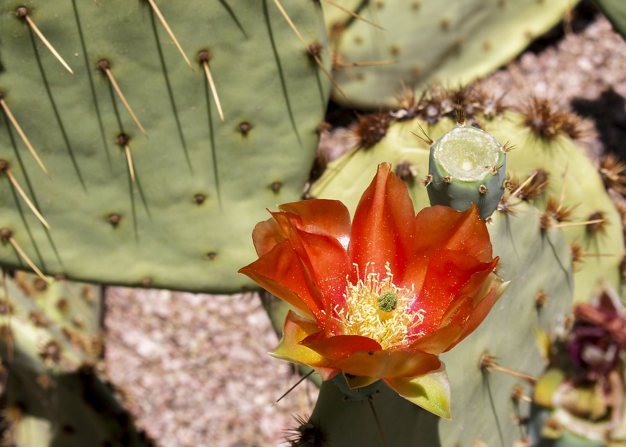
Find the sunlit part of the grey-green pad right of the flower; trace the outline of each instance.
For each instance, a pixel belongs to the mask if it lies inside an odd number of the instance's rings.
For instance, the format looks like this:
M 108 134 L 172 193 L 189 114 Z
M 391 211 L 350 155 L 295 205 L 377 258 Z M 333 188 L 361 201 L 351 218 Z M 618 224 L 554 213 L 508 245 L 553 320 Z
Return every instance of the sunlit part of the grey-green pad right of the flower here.
M 439 423 L 444 446 L 469 447 L 475 439 L 498 445 L 501 437 L 505 445 L 511 445 L 520 438 L 520 427 L 510 414 L 523 418 L 530 406 L 512 396 L 515 386 L 524 388 L 528 396 L 531 383 L 481 368 L 481 357 L 489 354 L 498 366 L 538 377 L 545 357 L 537 333 L 560 331 L 570 313 L 572 262 L 562 231 L 542 233 L 539 210 L 526 204 L 516 209 L 515 215 L 494 213 L 493 224 L 488 226 L 494 255 L 500 256 L 496 271 L 511 283 L 483 324 L 440 356 L 453 387 L 452 421 Z M 546 301 L 540 303 L 538 296 Z

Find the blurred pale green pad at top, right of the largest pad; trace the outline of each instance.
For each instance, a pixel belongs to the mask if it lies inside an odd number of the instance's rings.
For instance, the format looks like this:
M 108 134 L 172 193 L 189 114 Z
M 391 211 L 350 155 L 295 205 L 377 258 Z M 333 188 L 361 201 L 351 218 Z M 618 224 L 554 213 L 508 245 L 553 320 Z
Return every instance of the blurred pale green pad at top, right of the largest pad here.
M 409 88 L 467 85 L 520 53 L 563 18 L 577 1 L 478 0 L 363 2 L 340 0 L 384 29 L 324 4 L 336 80 L 347 106 L 392 106 Z M 394 63 L 341 66 L 341 63 Z M 334 94 L 342 103 L 344 96 Z

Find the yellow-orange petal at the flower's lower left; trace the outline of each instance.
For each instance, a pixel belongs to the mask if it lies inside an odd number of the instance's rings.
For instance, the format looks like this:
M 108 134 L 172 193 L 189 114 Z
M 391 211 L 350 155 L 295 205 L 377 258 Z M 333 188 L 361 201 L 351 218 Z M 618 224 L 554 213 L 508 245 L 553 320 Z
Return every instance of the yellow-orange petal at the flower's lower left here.
M 314 320 L 300 317 L 293 311 L 287 312 L 279 345 L 270 352 L 270 356 L 299 365 L 307 365 L 320 372 L 322 379 L 328 380 L 339 373 L 339 369 L 330 367 L 332 361 L 308 347 L 300 344 L 307 336 L 319 332 Z

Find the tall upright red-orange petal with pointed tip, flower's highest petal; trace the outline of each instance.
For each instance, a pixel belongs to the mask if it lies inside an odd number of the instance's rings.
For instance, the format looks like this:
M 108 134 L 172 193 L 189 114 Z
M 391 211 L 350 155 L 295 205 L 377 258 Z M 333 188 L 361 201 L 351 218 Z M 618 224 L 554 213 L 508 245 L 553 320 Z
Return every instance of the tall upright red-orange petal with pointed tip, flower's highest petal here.
M 383 275 L 389 262 L 391 272 L 402 277 L 413 247 L 414 221 L 408 188 L 391 172 L 389 163 L 381 163 L 354 213 L 351 262 L 359 265 L 361 273 L 371 262 L 369 271 Z

